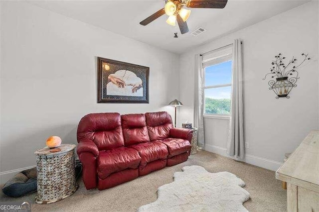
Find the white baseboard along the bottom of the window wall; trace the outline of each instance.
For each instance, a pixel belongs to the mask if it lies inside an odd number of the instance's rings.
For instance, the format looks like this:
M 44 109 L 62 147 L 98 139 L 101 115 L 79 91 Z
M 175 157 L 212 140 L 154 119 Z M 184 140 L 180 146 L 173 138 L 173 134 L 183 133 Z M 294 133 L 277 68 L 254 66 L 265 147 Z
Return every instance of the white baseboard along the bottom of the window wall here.
M 205 150 L 208 151 L 208 152 L 213 152 L 213 153 L 225 156 L 225 157 L 229 157 L 229 158 L 235 159 L 234 157 L 231 157 L 231 156 L 229 156 L 227 154 L 226 148 L 223 148 L 223 147 L 220 147 L 220 146 L 214 146 L 214 145 L 205 144 Z M 267 158 L 258 157 L 258 156 L 255 156 L 255 155 L 249 155 L 249 154 L 247 154 L 245 156 L 245 159 L 240 160 L 240 161 L 243 161 L 245 163 L 249 163 L 249 164 L 252 164 L 252 165 L 255 165 L 255 166 L 259 166 L 259 167 L 262 167 L 262 168 L 265 168 L 265 169 L 269 169 L 269 170 L 272 170 L 272 171 L 277 171 L 279 169 L 279 167 L 281 165 L 283 165 L 283 163 L 278 162 L 278 161 L 274 161 L 274 160 L 270 160 L 270 159 L 267 159 Z

